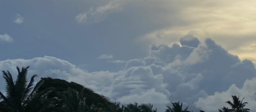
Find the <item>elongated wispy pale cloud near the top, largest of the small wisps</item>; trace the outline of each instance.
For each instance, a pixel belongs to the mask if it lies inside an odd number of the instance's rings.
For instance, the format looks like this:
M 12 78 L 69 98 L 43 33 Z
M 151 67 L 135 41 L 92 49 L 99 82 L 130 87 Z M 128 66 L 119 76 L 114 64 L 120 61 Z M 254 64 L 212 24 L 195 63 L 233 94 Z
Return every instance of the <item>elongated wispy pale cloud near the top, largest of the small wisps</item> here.
M 119 3 L 110 2 L 105 6 L 97 7 L 96 10 L 93 10 L 93 7 L 90 8 L 86 13 L 80 13 L 75 18 L 79 23 L 85 23 L 89 20 L 94 22 L 103 21 L 108 14 L 113 11 L 121 10 Z

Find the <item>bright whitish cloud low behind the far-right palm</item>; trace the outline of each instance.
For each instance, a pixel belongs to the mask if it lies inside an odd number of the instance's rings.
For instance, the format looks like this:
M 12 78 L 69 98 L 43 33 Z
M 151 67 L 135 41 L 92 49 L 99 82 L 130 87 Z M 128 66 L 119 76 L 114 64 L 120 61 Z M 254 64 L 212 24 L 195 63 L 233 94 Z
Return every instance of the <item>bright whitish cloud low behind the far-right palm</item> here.
M 231 108 L 227 101 L 232 101 L 232 95 L 240 96 L 241 100 L 244 98 L 244 102 L 248 102 L 245 106 L 251 109 L 252 112 L 256 111 L 256 79 L 246 80 L 242 88 L 238 88 L 235 84 L 231 85 L 227 90 L 222 92 L 216 92 L 214 95 L 207 96 L 206 98 L 199 98 L 195 105 L 200 109 L 208 112 L 215 112 L 217 109 L 221 109 L 223 106 Z

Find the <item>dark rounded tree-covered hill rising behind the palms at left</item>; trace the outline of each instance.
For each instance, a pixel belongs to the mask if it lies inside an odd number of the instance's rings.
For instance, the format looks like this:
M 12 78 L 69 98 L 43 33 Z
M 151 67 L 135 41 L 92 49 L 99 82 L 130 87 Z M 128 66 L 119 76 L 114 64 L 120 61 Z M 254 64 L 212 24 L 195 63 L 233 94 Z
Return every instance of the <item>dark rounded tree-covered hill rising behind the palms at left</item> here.
M 41 80 L 44 80 L 45 82 L 40 86 L 38 89 L 39 91 L 47 88 L 55 88 L 55 91 L 51 93 L 49 97 L 56 97 L 58 92 L 66 91 L 68 88 L 72 88 L 77 91 L 81 91 L 83 89 L 83 96 L 86 97 L 86 105 L 98 105 L 102 110 L 106 111 L 113 111 L 113 109 L 119 108 L 119 104 L 111 102 L 107 97 L 96 94 L 91 89 L 85 88 L 78 83 L 52 78 L 41 78 Z

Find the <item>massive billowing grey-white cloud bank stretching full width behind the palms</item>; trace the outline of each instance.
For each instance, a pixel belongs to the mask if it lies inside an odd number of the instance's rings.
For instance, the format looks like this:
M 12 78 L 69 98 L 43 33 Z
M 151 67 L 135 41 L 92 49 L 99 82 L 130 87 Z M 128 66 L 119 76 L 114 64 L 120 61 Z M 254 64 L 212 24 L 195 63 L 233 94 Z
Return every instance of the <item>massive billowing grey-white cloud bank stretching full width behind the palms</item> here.
M 247 97 L 248 107 L 256 110 L 256 69 L 251 61 L 241 61 L 209 38 L 201 43 L 187 35 L 180 42 L 182 46 L 153 44 L 148 57 L 132 59 L 115 73 L 89 73 L 49 56 L 0 61 L 0 68 L 15 73 L 15 66 L 31 65 L 30 74 L 75 81 L 122 103 L 164 106 L 180 100 L 194 111 L 210 112 L 220 109 L 231 95 L 241 95 Z

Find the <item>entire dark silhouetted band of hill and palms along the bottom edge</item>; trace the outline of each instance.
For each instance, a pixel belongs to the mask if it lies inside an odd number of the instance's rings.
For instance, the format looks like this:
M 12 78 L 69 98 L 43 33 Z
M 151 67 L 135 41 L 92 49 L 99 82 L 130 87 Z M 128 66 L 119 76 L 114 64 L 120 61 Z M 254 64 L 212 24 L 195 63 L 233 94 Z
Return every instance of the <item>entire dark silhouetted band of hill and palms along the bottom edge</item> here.
M 157 112 L 151 104 L 128 104 L 111 102 L 108 98 L 94 93 L 75 82 L 60 79 L 41 78 L 34 86 L 33 75 L 27 81 L 28 67 L 18 70 L 14 81 L 9 71 L 2 71 L 6 82 L 6 95 L 0 92 L 0 112 Z M 247 102 L 237 96 L 226 102 L 231 108 L 223 107 L 219 112 L 249 112 Z M 217 109 L 216 109 L 217 111 Z M 166 112 L 190 112 L 180 102 L 172 102 Z M 200 111 L 204 112 L 204 111 Z

